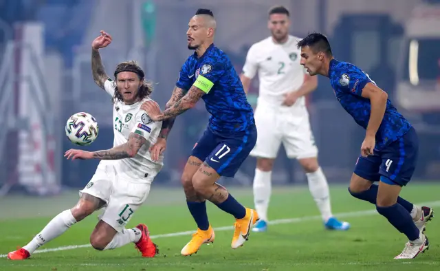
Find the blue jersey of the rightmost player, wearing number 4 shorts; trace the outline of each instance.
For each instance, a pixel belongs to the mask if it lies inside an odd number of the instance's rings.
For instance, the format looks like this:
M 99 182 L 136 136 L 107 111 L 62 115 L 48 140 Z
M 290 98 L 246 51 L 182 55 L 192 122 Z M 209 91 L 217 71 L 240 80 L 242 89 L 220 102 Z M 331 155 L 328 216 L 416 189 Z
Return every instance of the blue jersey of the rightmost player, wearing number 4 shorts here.
M 355 122 L 366 129 L 370 120 L 370 100 L 362 97 L 362 89 L 367 83 L 374 83 L 362 69 L 347 62 L 330 61 L 329 78 L 336 98 L 354 118 Z M 391 104 L 386 101 L 385 115 L 376 133 L 376 150 L 384 149 L 411 129 L 411 124 Z

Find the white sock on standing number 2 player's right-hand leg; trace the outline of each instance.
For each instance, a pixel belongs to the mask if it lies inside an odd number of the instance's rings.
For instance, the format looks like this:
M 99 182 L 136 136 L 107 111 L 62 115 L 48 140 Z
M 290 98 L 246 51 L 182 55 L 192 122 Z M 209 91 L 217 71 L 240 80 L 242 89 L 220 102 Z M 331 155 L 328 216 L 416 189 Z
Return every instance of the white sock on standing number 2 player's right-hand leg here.
M 312 173 L 306 173 L 309 182 L 309 191 L 314 197 L 316 205 L 321 212 L 322 220 L 327 221 L 333 215 L 331 214 L 329 184 L 325 178 L 322 169 Z

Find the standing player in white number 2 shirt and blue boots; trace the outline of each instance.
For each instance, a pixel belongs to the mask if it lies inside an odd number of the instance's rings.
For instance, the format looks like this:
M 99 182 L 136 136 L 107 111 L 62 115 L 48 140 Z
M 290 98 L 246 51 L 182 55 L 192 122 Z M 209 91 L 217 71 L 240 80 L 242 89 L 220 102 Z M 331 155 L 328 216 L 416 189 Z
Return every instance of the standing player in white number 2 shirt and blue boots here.
M 254 177 L 254 204 L 260 221 L 252 230 L 267 230 L 267 208 L 272 190 L 272 168 L 283 142 L 288 158 L 303 166 L 324 221 L 325 228 L 348 230 L 347 222 L 338 221 L 331 213 L 329 184 L 318 164 L 318 149 L 311 131 L 305 96 L 316 89 L 318 79 L 309 76 L 300 65 L 299 38 L 289 35 L 289 11 L 276 6 L 269 11 L 268 28 L 272 36 L 250 47 L 241 74 L 248 92 L 258 72 L 259 98 L 255 110 L 258 131 L 250 155 L 257 158 Z

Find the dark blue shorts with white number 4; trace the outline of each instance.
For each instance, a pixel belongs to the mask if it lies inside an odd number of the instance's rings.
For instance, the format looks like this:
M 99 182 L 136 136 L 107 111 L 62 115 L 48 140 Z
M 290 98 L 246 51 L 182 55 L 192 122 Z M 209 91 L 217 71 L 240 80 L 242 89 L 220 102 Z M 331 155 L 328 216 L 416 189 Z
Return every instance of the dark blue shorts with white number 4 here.
M 414 128 L 381 151 L 373 151 L 356 162 L 356 175 L 371 182 L 406 186 L 411 180 L 419 153 L 419 139 Z

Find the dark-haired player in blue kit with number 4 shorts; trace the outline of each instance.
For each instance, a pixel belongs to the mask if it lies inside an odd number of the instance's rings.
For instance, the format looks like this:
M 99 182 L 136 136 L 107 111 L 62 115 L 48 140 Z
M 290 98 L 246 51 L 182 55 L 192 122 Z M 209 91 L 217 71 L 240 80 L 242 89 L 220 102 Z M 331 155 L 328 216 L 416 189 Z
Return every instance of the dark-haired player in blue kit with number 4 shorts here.
M 329 77 L 342 107 L 366 129 L 349 192 L 353 197 L 375 204 L 377 212 L 408 237 L 404 250 L 395 259 L 417 257 L 428 250 L 428 238 L 423 232 L 434 212 L 399 197 L 401 187 L 410 181 L 417 162 L 419 141 L 415 129 L 368 74 L 351 63 L 333 58 L 326 36 L 309 34 L 298 42 L 298 47 L 301 48 L 300 64 L 311 76 Z

